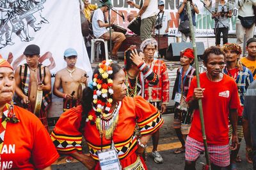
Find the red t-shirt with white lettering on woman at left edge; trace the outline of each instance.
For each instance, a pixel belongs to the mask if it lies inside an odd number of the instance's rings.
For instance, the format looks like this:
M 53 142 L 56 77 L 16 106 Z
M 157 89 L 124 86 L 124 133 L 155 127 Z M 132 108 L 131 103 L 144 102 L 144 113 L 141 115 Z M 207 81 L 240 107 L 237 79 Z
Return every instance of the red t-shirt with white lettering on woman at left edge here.
M 23 108 L 14 106 L 20 122 L 7 122 L 1 154 L 2 169 L 43 169 L 59 154 L 40 120 Z M 0 119 L 1 120 L 1 119 Z

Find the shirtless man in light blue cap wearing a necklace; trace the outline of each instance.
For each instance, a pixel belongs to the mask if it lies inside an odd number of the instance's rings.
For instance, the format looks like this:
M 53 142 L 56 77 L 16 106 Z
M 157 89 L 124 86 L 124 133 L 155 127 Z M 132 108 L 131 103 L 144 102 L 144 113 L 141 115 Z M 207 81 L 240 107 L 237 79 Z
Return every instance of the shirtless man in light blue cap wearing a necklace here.
M 63 98 L 63 111 L 66 111 L 79 104 L 77 98 L 79 85 L 81 83 L 87 85 L 87 76 L 86 71 L 76 67 L 76 50 L 73 48 L 65 50 L 64 60 L 67 62 L 67 67 L 56 73 L 53 94 Z M 60 91 L 61 87 L 63 92 Z

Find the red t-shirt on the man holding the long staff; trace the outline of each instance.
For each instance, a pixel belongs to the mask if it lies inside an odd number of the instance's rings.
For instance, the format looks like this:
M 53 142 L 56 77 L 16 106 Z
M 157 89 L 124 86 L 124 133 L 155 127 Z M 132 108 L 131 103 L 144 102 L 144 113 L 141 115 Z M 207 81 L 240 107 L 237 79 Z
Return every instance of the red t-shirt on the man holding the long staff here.
M 194 77 L 186 101 L 190 101 L 196 87 L 196 77 Z M 229 109 L 237 109 L 240 104 L 236 82 L 226 74 L 221 81 L 213 82 L 207 78 L 206 73 L 202 73 L 200 87 L 205 89 L 202 106 L 207 143 L 228 145 Z M 195 110 L 189 137 L 203 142 L 199 110 Z

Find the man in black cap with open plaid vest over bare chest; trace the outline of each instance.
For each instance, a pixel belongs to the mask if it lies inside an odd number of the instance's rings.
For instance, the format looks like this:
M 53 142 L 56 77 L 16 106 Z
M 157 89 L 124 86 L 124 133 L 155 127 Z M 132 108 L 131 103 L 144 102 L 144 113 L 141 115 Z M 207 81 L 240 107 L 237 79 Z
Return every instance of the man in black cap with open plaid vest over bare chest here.
M 47 109 L 51 104 L 51 73 L 48 67 L 38 62 L 39 46 L 29 45 L 23 54 L 26 56 L 26 64 L 20 65 L 15 70 L 15 102 L 35 113 L 48 129 Z

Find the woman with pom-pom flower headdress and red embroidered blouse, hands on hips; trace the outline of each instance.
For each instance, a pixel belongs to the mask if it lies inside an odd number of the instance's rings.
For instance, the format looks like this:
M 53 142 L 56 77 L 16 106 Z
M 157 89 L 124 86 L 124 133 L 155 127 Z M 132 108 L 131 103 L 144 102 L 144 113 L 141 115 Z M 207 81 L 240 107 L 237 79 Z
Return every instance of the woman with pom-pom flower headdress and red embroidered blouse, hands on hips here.
M 100 166 L 105 162 L 100 155 L 113 150 L 120 162 L 118 169 L 147 169 L 140 154 L 163 119 L 143 97 L 126 97 L 126 90 L 123 69 L 111 60 L 101 62 L 93 73 L 93 81 L 83 91 L 82 105 L 63 113 L 52 132 L 57 150 L 71 155 L 88 169 L 103 168 Z M 136 123 L 140 139 L 134 136 Z M 90 156 L 82 153 L 82 136 Z

